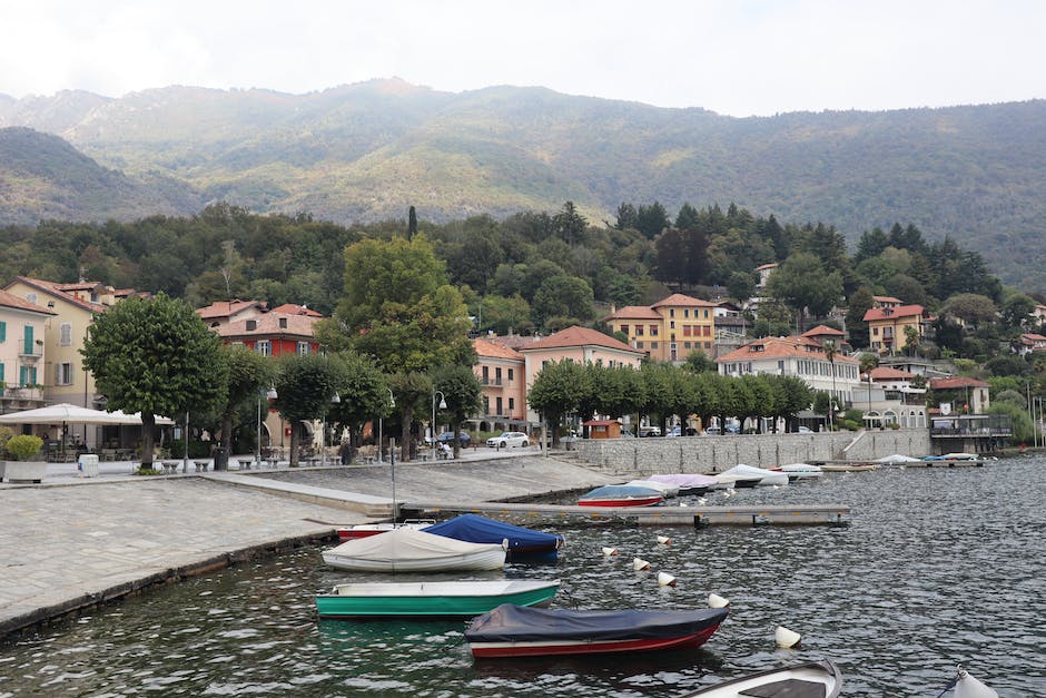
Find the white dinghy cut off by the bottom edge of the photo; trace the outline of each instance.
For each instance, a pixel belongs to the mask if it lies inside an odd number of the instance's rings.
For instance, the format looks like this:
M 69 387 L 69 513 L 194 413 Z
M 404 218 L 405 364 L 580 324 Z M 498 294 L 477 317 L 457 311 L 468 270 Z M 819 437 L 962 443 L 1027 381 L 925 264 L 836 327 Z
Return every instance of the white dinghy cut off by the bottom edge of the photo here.
M 837 698 L 841 688 L 839 667 L 823 659 L 742 676 L 680 698 Z

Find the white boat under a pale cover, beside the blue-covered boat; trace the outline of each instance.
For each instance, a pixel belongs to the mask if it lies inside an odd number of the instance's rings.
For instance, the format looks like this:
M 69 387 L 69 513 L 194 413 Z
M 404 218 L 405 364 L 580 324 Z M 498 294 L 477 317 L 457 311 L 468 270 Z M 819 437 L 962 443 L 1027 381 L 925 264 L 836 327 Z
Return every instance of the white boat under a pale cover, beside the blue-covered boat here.
M 436 572 L 500 570 L 505 545 L 468 543 L 413 529 L 395 529 L 382 535 L 351 540 L 326 550 L 323 560 L 333 568 L 364 572 Z

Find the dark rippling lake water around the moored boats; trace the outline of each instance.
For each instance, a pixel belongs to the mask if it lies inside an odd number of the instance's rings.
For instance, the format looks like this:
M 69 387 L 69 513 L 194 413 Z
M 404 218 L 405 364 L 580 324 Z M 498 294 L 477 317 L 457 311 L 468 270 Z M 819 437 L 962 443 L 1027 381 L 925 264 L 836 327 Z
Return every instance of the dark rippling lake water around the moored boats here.
M 575 608 L 703 608 L 714 591 L 731 615 L 698 650 L 476 662 L 464 621 L 318 621 L 313 596 L 353 577 L 303 549 L 0 645 L 0 697 L 670 697 L 826 657 L 843 671 L 845 696 L 932 698 L 960 663 L 1003 697 L 1046 696 L 1046 459 L 827 473 L 731 499 L 756 502 L 848 504 L 852 523 L 694 530 L 521 519 L 566 535 L 560 560 L 471 577 L 559 578 L 555 604 Z M 603 557 L 604 545 L 621 554 Z M 651 571 L 634 572 L 635 556 Z M 658 571 L 678 586 L 659 587 Z M 776 649 L 777 625 L 801 633 L 801 649 Z

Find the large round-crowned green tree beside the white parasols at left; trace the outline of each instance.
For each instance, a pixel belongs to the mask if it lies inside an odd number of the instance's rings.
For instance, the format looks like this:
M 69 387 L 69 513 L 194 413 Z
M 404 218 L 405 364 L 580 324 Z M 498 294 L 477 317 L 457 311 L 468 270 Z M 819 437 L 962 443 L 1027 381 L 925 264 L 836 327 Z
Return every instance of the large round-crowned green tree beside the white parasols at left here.
M 80 353 L 108 406 L 141 412 L 141 463 L 152 465 L 156 414 L 213 410 L 228 365 L 218 335 L 181 301 L 132 296 L 97 315 Z

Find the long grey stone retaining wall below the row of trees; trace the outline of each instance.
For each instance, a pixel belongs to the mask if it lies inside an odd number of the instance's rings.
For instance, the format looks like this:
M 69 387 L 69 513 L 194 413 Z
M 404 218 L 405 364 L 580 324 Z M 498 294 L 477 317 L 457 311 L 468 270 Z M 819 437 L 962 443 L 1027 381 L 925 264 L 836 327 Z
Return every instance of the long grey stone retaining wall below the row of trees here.
M 810 461 L 872 461 L 930 453 L 925 429 L 818 434 L 740 434 L 675 439 L 586 439 L 571 444 L 591 468 L 606 473 L 711 473 L 747 463 L 776 468 Z

